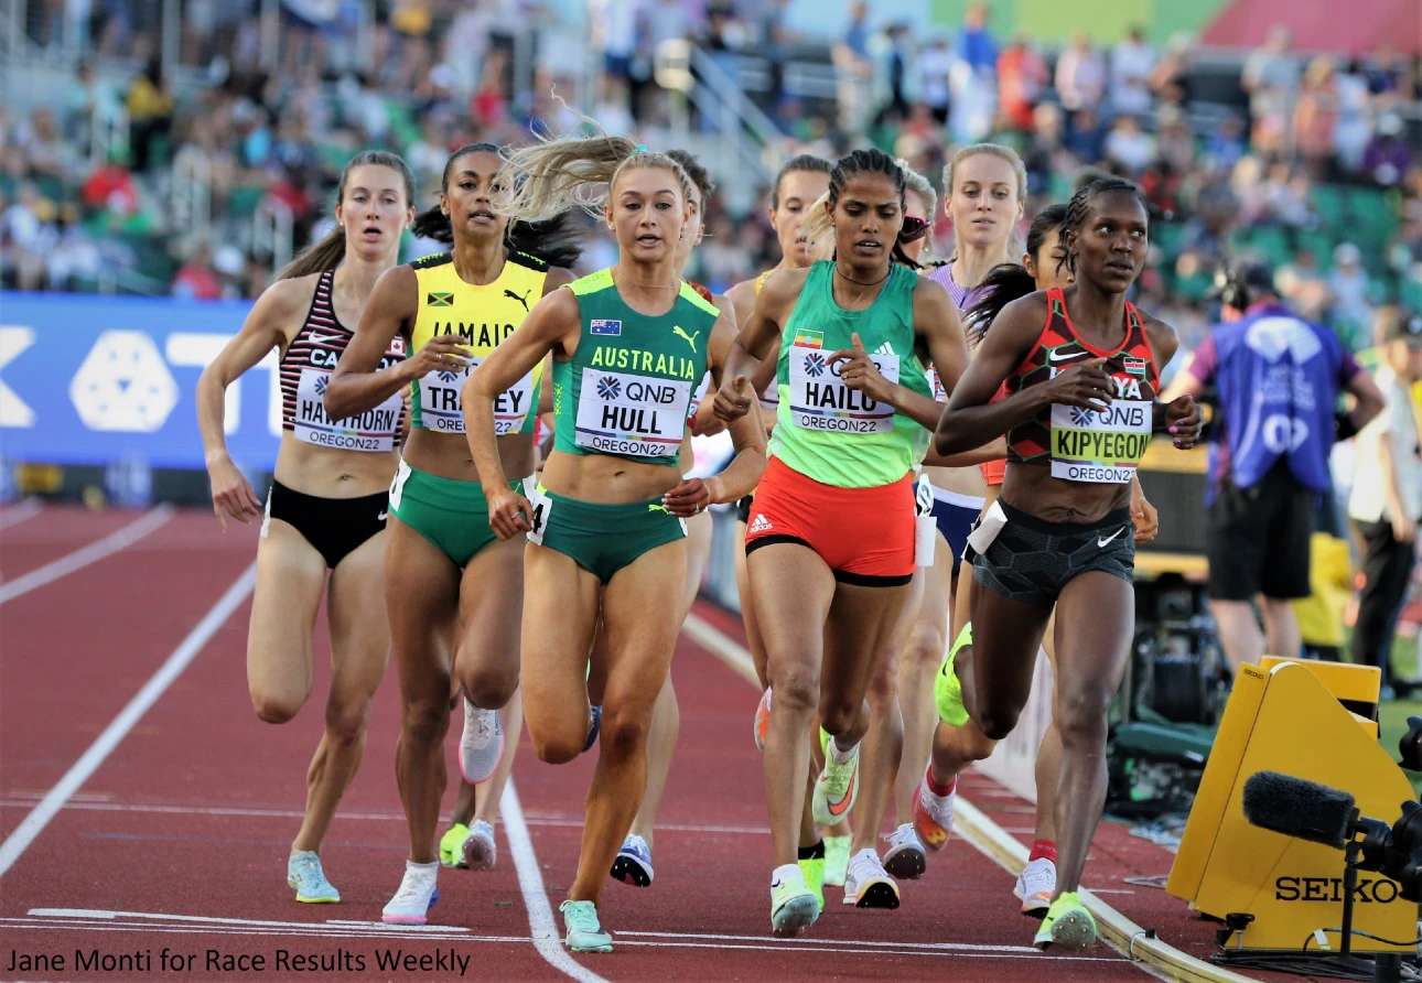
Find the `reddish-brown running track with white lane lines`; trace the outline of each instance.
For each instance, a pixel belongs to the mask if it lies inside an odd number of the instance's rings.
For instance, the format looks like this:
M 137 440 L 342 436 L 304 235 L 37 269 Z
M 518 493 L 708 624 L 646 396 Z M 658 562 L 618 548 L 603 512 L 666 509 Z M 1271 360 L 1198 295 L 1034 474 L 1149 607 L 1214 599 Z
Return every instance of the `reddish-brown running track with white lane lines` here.
M 90 549 L 88 565 L 64 565 L 95 543 L 104 545 Z M 425 929 L 378 923 L 405 855 L 391 676 L 375 700 L 364 768 L 324 848 L 343 903 L 296 905 L 284 861 L 328 673 L 319 667 L 313 703 L 296 721 L 277 728 L 252 714 L 243 656 L 255 546 L 255 526 L 222 535 L 203 512 L 23 504 L 0 511 L 0 979 L 458 979 L 454 959 L 469 960 L 465 979 L 567 974 L 589 983 L 995 982 L 1044 972 L 1054 982 L 1143 979 L 1139 966 L 1105 946 L 1085 956 L 1031 949 L 1032 923 L 1017 915 L 1011 875 L 957 838 L 930 861 L 924 881 L 902 885 L 899 910 L 843 908 L 840 892 L 826 889 L 828 910 L 808 939 L 771 939 L 769 836 L 749 734 L 755 691 L 685 637 L 673 664 L 683 726 L 656 842 L 657 881 L 644 891 L 609 886 L 603 920 L 617 937 L 614 955 L 574 962 L 549 936 L 550 915 L 552 930 L 560 926 L 555 909 L 574 871 L 593 761 L 545 765 L 528 741 L 512 782 L 523 824 L 499 824 L 498 866 L 441 871 L 442 898 Z M 37 570 L 47 570 L 38 586 L 4 593 L 36 583 Z M 734 619 L 704 606 L 698 613 L 739 639 Z M 321 630 L 317 652 L 324 650 Z M 158 681 L 169 684 L 159 693 L 154 680 L 165 663 L 168 676 Z M 144 713 L 131 703 L 138 696 L 151 704 Z M 458 775 L 455 738 L 451 775 Z M 107 757 L 98 760 L 101 751 Z M 74 771 L 81 758 L 94 765 L 91 774 Z M 1030 805 L 985 780 L 967 784 L 984 812 L 1030 836 Z M 452 797 L 451 787 L 447 812 Z M 506 797 L 505 819 L 510 805 Z M 13 836 L 27 817 L 28 828 Z M 510 849 L 510 832 L 522 849 Z M 1162 891 L 1123 881 L 1163 875 L 1169 864 L 1166 851 L 1103 825 L 1086 885 L 1112 892 L 1103 898 L 1135 922 L 1203 956 L 1210 926 Z M 165 972 L 165 947 L 195 956 L 192 967 Z M 75 966 L 75 950 L 95 949 L 149 953 L 151 963 L 117 972 Z M 64 969 L 11 972 L 11 950 L 63 955 Z M 209 950 L 219 959 L 263 956 L 263 972 L 209 967 Z M 333 965 L 343 969 L 297 972 L 299 965 L 276 963 L 279 950 L 340 960 Z M 427 960 L 377 965 L 378 953 L 397 950 Z

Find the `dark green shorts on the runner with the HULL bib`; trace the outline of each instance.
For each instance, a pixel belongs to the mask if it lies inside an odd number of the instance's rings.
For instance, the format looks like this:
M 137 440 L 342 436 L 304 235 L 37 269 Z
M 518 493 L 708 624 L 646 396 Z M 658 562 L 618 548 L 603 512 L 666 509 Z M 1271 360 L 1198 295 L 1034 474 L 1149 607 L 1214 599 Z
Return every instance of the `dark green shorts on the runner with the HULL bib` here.
M 555 495 L 539 485 L 529 499 L 533 502 L 529 542 L 572 556 L 603 583 L 643 553 L 687 538 L 687 524 L 668 512 L 660 498 L 599 505 Z

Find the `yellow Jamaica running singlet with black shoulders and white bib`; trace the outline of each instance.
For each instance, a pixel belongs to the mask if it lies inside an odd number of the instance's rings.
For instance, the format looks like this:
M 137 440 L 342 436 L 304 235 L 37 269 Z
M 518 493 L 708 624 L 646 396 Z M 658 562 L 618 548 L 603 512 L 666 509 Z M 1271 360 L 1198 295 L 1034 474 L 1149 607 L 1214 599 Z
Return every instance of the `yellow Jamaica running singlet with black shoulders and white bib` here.
M 411 331 L 414 354 L 437 334 L 458 334 L 471 350 L 471 363 L 461 368 L 437 368 L 411 387 L 410 423 L 437 434 L 464 432 L 464 405 L 459 391 L 469 373 L 513 329 L 543 296 L 547 263 L 525 253 L 509 253 L 503 272 L 493 283 L 475 286 L 459 279 L 454 256 L 439 253 L 411 263 L 419 290 L 419 313 Z M 533 367 L 508 391 L 493 400 L 493 432 L 532 434 L 538 420 L 538 390 L 543 363 Z

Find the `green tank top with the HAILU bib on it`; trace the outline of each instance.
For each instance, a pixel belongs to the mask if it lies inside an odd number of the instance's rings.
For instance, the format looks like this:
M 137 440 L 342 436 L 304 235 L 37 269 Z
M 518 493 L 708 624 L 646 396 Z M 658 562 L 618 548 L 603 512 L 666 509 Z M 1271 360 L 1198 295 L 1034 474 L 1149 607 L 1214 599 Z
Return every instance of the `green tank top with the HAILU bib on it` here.
M 931 397 L 914 354 L 913 289 L 919 275 L 894 265 L 865 310 L 835 302 L 835 263 L 819 260 L 805 276 L 781 337 L 781 405 L 771 454 L 806 478 L 838 488 L 877 488 L 903 478 L 927 448 L 929 432 L 894 408 L 839 381 L 829 356 L 853 346 L 857 333 L 879 371 L 892 383 Z

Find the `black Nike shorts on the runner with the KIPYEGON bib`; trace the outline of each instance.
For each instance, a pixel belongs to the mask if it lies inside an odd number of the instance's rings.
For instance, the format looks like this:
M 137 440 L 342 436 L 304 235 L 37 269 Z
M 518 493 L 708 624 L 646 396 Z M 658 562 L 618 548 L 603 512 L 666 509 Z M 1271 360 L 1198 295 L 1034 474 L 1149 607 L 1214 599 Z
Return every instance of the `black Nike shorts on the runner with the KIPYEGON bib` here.
M 1126 583 L 1135 578 L 1136 539 L 1130 509 L 1099 522 L 1045 522 L 998 499 L 1004 525 L 985 553 L 968 551 L 973 575 L 984 588 L 1024 605 L 1055 605 L 1082 573 L 1101 570 Z

